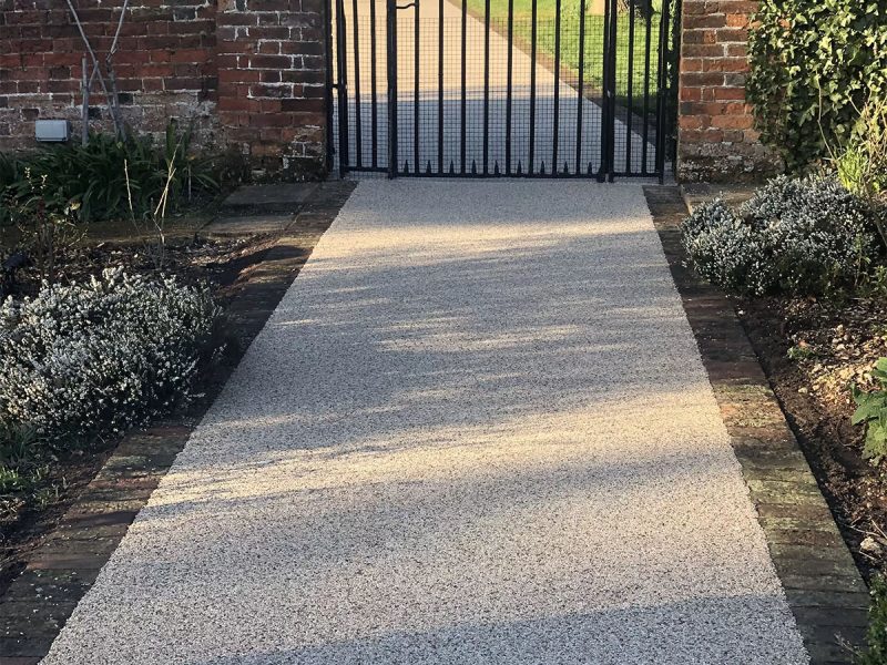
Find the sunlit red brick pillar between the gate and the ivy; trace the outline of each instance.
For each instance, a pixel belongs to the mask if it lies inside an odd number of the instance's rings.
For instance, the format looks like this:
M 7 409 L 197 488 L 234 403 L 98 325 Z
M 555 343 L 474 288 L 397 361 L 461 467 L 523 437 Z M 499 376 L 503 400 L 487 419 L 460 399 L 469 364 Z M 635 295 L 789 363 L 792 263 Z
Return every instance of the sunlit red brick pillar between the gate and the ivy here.
M 681 181 L 753 181 L 779 170 L 745 102 L 756 0 L 684 0 L 677 115 Z

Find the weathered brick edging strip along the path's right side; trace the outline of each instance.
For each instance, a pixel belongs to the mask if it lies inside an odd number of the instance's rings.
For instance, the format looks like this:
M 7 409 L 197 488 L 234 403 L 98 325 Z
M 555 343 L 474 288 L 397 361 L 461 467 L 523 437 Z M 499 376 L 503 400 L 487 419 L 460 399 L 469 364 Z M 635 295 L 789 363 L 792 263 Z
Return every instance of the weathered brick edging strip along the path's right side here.
M 684 265 L 681 192 L 644 194 L 812 665 L 852 663 L 839 640 L 863 643 L 865 582 L 732 303 Z

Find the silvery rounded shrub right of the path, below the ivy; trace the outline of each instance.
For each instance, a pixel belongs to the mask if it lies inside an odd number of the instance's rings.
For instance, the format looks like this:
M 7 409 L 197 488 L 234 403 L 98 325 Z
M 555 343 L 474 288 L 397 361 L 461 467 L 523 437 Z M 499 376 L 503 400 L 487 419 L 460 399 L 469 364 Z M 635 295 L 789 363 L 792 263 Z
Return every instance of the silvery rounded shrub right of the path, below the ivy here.
M 876 250 L 871 209 L 830 176 L 779 176 L 733 209 L 697 207 L 682 241 L 696 272 L 743 295 L 818 295 L 853 284 Z

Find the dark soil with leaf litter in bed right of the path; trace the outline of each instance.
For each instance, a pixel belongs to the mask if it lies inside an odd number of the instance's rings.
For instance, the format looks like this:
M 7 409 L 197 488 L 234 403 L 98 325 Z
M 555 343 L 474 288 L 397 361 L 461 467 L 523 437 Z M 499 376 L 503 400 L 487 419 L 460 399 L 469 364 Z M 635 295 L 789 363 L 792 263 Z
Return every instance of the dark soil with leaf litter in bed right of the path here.
M 887 462 L 861 457 L 849 386 L 887 356 L 887 301 L 765 298 L 737 311 L 863 573 L 887 572 Z

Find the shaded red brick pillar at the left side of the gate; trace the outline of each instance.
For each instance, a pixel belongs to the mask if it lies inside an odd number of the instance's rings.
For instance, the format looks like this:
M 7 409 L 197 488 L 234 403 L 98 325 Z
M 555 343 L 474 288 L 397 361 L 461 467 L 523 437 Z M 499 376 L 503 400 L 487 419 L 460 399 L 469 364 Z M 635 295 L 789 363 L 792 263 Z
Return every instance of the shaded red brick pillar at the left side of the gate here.
M 324 172 L 324 0 L 220 0 L 218 119 L 257 180 Z

